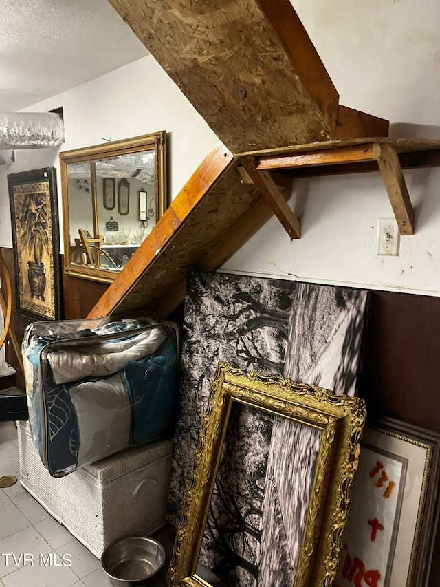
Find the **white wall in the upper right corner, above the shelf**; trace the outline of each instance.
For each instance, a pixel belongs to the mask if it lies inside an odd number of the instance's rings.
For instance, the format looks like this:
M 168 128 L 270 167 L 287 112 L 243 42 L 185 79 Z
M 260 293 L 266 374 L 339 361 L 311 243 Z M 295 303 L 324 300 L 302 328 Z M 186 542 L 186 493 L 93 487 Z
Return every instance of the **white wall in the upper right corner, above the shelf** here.
M 438 0 L 291 2 L 341 104 L 394 124 L 439 125 Z

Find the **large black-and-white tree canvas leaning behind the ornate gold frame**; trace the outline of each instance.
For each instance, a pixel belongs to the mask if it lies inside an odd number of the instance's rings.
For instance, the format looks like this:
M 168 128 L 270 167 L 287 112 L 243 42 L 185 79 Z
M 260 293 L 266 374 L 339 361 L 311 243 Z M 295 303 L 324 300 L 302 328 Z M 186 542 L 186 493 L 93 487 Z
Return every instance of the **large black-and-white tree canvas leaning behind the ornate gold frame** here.
M 362 290 L 188 275 L 172 531 L 217 362 L 354 394 L 365 312 Z M 199 555 L 197 572 L 210 584 L 292 586 L 319 443 L 311 427 L 250 407 L 234 411 Z

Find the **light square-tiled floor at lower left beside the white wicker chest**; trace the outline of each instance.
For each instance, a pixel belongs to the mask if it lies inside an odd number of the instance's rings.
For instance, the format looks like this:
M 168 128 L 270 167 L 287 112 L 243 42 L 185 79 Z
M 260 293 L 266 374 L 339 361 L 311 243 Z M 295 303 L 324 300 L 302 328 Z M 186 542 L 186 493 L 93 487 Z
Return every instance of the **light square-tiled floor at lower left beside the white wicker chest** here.
M 10 422 L 0 422 L 0 477 L 3 475 L 19 478 L 17 430 Z M 23 562 L 20 555 L 28 555 L 27 560 Z M 72 564 L 63 565 L 69 559 Z M 111 587 L 100 560 L 17 482 L 0 489 L 0 587 L 23 585 Z

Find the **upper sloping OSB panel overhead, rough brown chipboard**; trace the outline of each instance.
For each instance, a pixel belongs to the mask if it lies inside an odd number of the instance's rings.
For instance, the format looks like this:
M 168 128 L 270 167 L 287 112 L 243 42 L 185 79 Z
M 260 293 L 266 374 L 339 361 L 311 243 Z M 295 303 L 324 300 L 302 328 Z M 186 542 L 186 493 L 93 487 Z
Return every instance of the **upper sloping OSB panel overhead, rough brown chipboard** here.
M 255 0 L 109 1 L 232 153 L 331 138 Z M 294 36 L 294 8 L 283 12 Z

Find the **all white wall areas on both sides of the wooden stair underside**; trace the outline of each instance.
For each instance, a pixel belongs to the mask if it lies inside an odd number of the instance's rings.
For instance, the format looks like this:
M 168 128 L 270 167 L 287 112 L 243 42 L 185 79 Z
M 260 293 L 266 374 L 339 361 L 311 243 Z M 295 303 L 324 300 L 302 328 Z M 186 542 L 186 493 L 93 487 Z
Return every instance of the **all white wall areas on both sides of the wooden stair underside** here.
M 292 3 L 340 103 L 387 118 L 393 136 L 440 140 L 438 0 Z M 173 195 L 217 140 L 151 56 L 39 106 L 61 105 L 62 150 L 169 131 Z M 11 246 L 5 173 L 56 164 L 58 150 L 17 151 L 17 162 L 0 168 L 0 245 Z M 292 242 L 272 218 L 223 270 L 440 296 L 440 169 L 405 176 L 416 234 L 401 238 L 399 257 L 376 255 L 377 219 L 392 210 L 379 173 L 364 173 L 296 181 L 290 204 L 303 237 Z

